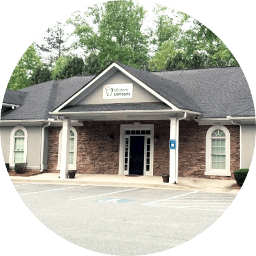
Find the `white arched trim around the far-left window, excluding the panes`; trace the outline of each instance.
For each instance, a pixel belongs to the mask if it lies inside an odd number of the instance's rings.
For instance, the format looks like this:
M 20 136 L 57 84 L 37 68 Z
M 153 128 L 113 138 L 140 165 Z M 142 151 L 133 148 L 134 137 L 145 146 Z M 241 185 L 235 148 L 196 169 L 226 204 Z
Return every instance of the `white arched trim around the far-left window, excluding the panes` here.
M 9 154 L 9 164 L 10 168 L 14 168 L 14 142 L 15 142 L 15 132 L 17 130 L 23 130 L 25 137 L 24 137 L 24 155 L 23 155 L 23 163 L 27 162 L 27 138 L 28 138 L 28 133 L 27 129 L 24 126 L 16 126 L 12 129 L 12 132 L 10 134 L 10 154 Z

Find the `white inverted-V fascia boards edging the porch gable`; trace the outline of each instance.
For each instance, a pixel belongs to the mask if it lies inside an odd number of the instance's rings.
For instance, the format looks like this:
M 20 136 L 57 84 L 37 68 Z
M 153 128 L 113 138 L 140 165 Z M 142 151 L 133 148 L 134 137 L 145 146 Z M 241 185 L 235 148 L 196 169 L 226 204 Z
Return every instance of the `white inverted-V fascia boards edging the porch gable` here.
M 121 71 L 122 73 L 126 74 L 127 77 L 129 77 L 130 79 L 132 79 L 134 82 L 136 82 L 137 84 L 141 85 L 141 87 L 143 87 L 145 90 L 147 90 L 149 93 L 151 93 L 152 95 L 154 95 L 156 98 L 160 99 L 160 101 L 164 102 L 166 105 L 168 105 L 169 107 L 171 107 L 173 110 L 179 110 L 179 108 L 177 108 L 175 105 L 171 104 L 171 102 L 167 101 L 165 98 L 163 98 L 162 96 L 160 96 L 160 94 L 156 93 L 154 90 L 152 90 L 150 87 L 148 87 L 148 85 L 144 84 L 143 82 L 141 82 L 139 79 L 137 79 L 136 77 L 132 76 L 132 74 L 130 74 L 128 71 L 126 71 L 126 69 L 122 68 L 121 66 L 119 66 L 118 64 L 116 64 L 115 62 L 113 62 L 110 66 L 108 66 L 104 71 L 102 71 L 102 73 L 100 73 L 98 76 L 96 76 L 93 80 L 91 80 L 91 82 L 89 82 L 89 84 L 80 89 L 79 91 L 77 91 L 77 93 L 75 93 L 71 98 L 69 98 L 67 101 L 65 101 L 62 105 L 60 105 L 59 107 L 55 108 L 54 112 L 52 113 L 56 113 L 59 112 L 63 107 L 65 107 L 69 102 L 73 101 L 73 99 L 75 99 L 77 96 L 79 96 L 79 94 L 83 93 L 85 90 L 87 90 L 88 88 L 91 87 L 91 85 L 94 84 L 94 82 L 96 82 L 96 80 L 98 80 L 99 78 L 101 78 L 102 76 L 104 76 L 105 73 L 107 73 L 110 69 L 112 69 L 113 67 L 119 69 L 119 71 Z

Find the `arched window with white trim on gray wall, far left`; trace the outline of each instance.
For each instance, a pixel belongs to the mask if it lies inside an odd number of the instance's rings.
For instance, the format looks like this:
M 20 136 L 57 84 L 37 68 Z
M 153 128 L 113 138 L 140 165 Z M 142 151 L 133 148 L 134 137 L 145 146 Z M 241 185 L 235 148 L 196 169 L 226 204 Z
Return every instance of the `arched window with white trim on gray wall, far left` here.
M 27 129 L 23 126 L 13 128 L 10 136 L 9 163 L 14 167 L 15 163 L 27 161 Z

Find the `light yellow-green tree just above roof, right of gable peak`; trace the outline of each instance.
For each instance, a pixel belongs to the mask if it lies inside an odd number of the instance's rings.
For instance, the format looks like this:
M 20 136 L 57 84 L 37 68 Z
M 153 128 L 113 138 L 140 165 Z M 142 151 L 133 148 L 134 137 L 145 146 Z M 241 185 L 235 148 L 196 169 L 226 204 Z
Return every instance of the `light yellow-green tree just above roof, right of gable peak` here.
M 159 71 L 166 68 L 168 59 L 174 56 L 174 43 L 172 41 L 166 41 L 162 43 L 158 52 L 155 52 L 154 57 L 149 62 L 149 69 L 151 71 Z

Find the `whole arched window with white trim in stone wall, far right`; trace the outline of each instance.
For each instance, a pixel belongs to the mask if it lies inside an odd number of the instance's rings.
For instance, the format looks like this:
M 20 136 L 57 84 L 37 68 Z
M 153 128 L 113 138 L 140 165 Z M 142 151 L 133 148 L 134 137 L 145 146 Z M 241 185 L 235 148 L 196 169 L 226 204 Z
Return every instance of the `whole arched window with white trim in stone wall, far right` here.
M 205 175 L 231 175 L 230 133 L 224 126 L 212 126 L 207 132 Z

